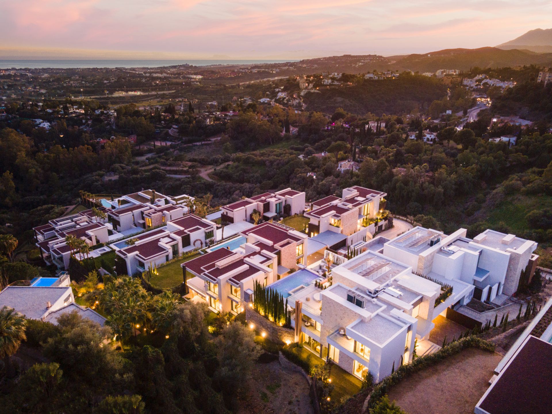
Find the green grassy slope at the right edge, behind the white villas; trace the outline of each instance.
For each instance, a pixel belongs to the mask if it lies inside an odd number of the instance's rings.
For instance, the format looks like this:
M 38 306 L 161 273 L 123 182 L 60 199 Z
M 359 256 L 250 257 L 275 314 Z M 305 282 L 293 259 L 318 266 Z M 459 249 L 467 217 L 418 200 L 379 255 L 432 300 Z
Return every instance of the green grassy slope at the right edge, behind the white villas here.
M 493 209 L 487 221 L 491 225 L 497 225 L 503 221 L 514 234 L 520 234 L 529 228 L 526 215 L 533 210 L 552 209 L 552 197 L 550 195 L 539 195 L 530 197 L 516 194 L 508 197 Z

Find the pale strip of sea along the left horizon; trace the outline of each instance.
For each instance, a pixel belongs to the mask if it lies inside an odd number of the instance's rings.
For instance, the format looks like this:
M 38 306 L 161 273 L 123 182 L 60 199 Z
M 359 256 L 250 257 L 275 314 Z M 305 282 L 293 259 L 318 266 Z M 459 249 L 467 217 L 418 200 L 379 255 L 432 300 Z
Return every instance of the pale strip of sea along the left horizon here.
M 114 68 L 114 67 L 161 67 L 174 65 L 211 66 L 211 65 L 254 65 L 256 63 L 284 63 L 298 60 L 1 60 L 0 69 L 41 69 L 41 68 Z

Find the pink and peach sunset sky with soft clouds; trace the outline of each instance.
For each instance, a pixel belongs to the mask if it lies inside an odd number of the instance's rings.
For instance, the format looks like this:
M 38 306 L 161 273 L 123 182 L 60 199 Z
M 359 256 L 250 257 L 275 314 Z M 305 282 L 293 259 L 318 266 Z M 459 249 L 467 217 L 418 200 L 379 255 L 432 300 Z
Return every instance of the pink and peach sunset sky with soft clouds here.
M 495 46 L 541 0 L 0 0 L 0 59 L 306 59 Z

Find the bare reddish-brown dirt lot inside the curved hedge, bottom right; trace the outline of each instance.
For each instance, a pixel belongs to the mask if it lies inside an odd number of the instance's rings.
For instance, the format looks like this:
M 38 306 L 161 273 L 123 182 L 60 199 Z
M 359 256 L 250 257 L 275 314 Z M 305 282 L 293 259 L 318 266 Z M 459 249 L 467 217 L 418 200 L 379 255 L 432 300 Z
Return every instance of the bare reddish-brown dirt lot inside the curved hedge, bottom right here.
M 389 399 L 408 414 L 473 414 L 501 355 L 469 348 L 401 381 Z

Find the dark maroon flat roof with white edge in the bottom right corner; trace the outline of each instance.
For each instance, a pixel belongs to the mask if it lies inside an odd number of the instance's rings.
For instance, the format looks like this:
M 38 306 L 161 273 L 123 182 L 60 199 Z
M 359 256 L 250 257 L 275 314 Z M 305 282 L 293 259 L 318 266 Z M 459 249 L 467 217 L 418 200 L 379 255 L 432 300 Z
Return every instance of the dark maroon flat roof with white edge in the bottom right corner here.
M 489 414 L 549 413 L 550 384 L 552 344 L 529 336 L 477 403 L 476 410 Z

